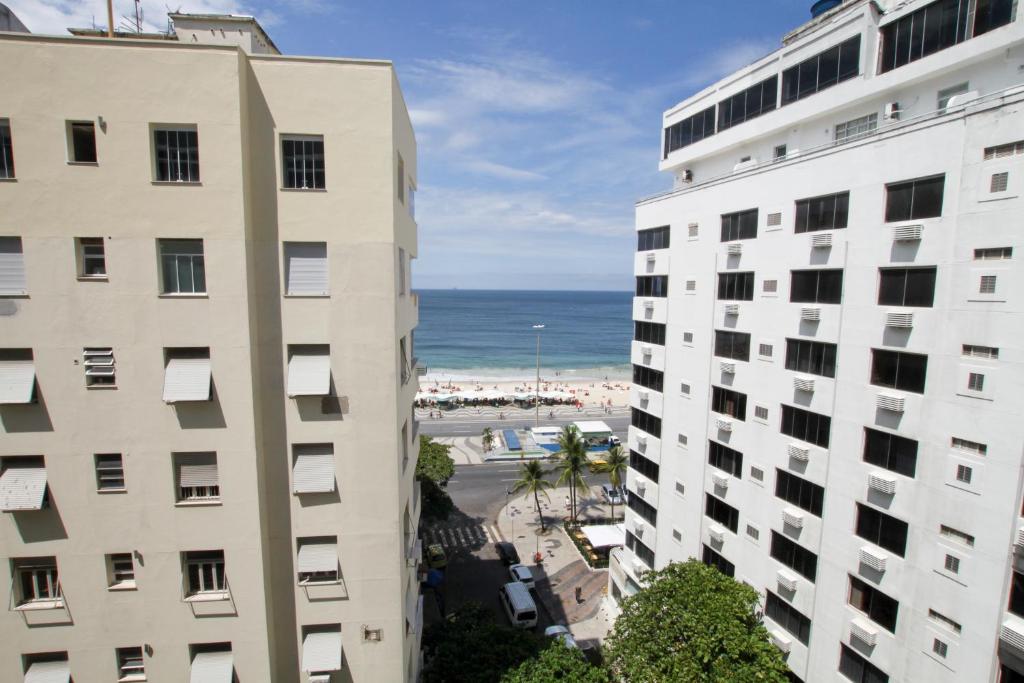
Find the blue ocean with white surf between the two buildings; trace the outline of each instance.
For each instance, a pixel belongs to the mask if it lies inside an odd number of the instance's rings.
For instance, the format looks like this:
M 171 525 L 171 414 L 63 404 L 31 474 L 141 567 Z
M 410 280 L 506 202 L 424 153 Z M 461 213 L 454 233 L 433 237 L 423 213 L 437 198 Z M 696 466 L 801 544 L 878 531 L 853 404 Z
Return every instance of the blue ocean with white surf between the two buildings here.
M 632 292 L 417 290 L 415 353 L 429 377 L 628 379 Z

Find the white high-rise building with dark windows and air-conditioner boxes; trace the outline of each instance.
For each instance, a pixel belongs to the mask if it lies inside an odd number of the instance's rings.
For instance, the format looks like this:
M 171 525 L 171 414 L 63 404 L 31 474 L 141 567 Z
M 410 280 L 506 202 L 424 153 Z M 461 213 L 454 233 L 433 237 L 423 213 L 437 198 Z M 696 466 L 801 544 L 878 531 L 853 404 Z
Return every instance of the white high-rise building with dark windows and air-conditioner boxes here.
M 795 680 L 1024 681 L 1024 22 L 852 0 L 665 113 L 627 548 L 763 598 Z

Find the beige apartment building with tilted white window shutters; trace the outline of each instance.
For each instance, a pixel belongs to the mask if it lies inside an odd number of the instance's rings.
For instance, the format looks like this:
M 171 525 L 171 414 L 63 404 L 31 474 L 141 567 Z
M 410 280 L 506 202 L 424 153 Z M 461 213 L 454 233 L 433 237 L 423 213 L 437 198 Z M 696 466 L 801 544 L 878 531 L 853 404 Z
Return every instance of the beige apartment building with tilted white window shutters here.
M 0 35 L 0 679 L 416 680 L 394 69 L 172 19 Z

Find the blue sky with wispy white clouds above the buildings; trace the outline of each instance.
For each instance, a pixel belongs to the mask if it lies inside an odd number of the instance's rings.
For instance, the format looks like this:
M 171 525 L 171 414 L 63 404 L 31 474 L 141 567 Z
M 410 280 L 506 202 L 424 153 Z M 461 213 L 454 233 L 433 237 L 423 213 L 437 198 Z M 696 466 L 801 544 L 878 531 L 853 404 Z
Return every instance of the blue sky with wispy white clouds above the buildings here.
M 37 33 L 105 24 L 103 0 L 6 4 Z M 671 184 L 662 112 L 775 49 L 811 0 L 167 4 L 254 14 L 288 54 L 394 61 L 419 143 L 415 287 L 626 290 L 633 204 Z

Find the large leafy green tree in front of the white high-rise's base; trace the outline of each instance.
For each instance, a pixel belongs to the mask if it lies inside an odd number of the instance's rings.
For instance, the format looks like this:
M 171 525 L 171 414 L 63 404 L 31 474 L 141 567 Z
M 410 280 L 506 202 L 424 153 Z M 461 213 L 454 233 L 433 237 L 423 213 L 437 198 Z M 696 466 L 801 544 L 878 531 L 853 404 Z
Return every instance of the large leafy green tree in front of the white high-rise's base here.
M 606 645 L 615 680 L 786 683 L 754 589 L 697 560 L 644 575 Z

